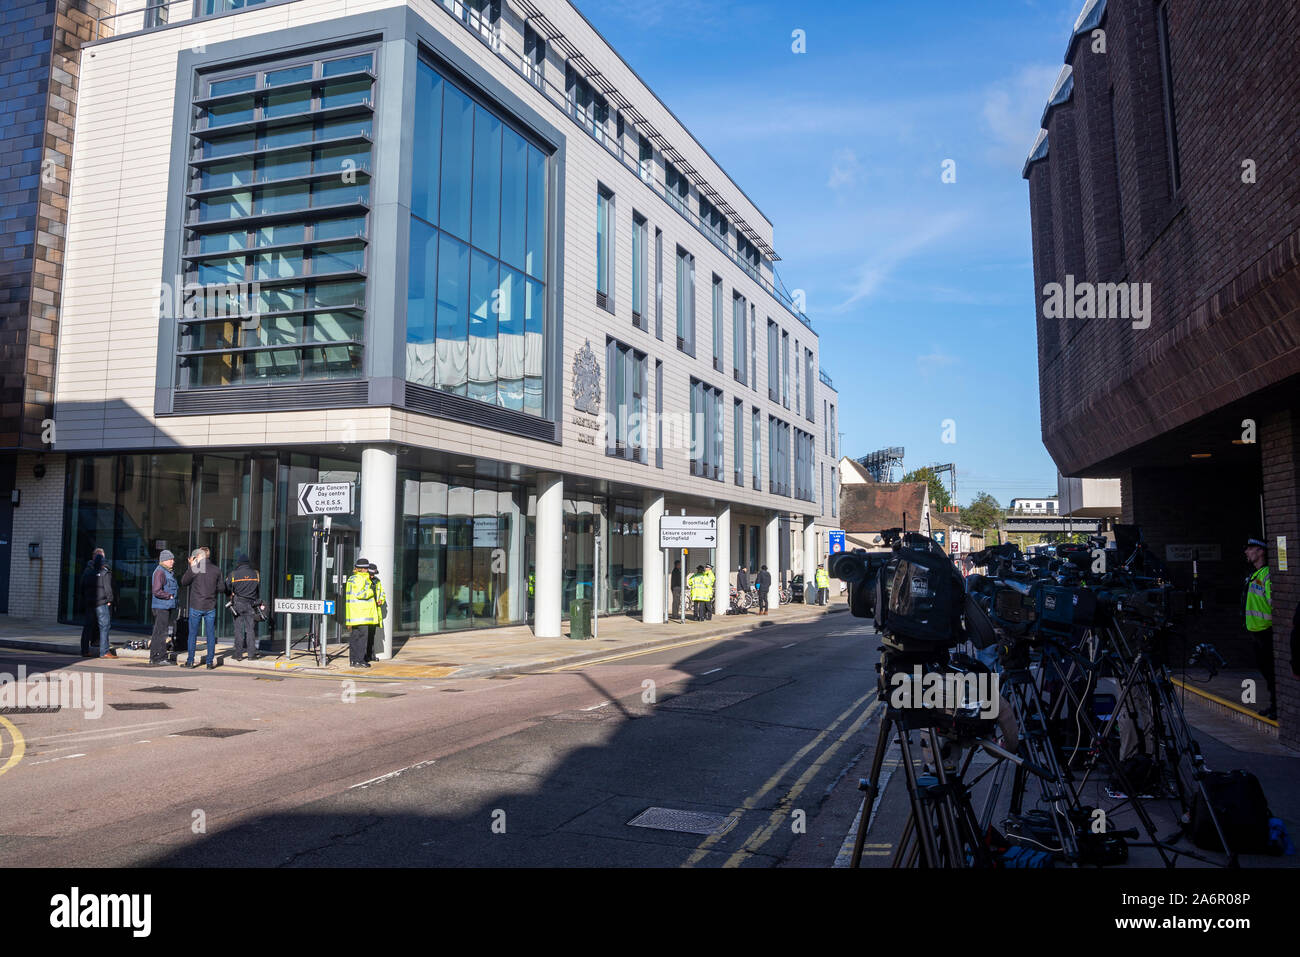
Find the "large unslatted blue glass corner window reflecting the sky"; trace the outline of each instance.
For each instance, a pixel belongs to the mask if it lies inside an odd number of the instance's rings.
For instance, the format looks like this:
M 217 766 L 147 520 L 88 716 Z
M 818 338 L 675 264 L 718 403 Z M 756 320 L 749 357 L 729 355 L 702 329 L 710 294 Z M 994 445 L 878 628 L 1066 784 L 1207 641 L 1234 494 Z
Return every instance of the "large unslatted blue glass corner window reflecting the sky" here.
M 407 378 L 543 411 L 546 153 L 420 61 Z

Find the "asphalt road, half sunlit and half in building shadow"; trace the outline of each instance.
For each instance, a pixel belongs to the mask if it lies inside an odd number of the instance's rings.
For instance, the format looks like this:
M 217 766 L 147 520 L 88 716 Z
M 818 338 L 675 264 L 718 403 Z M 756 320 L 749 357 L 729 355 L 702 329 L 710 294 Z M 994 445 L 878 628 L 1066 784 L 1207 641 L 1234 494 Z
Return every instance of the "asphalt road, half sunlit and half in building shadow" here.
M 875 657 L 844 612 L 473 680 L 0 651 L 101 675 L 107 702 L 0 723 L 0 866 L 826 867 Z M 699 832 L 629 823 L 655 807 Z

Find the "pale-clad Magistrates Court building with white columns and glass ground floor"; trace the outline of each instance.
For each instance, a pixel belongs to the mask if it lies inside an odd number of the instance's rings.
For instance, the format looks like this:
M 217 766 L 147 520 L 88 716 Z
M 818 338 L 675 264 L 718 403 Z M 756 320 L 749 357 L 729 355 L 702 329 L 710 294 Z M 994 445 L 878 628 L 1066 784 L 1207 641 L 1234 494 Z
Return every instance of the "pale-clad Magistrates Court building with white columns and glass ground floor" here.
M 716 520 L 688 563 L 719 577 L 815 568 L 837 398 L 772 225 L 575 7 L 105 13 L 12 614 L 79 620 L 95 546 L 120 624 L 164 547 L 309 597 L 317 482 L 355 490 L 326 596 L 378 564 L 387 642 L 559 636 L 578 598 L 662 620 L 666 514 Z

